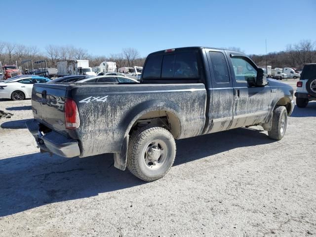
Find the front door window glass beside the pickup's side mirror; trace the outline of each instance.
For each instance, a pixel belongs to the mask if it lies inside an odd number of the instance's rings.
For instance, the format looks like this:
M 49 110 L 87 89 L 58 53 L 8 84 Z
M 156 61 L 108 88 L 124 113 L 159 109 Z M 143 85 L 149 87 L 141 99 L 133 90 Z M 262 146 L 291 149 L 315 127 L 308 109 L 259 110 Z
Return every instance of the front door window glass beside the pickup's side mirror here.
M 257 70 L 242 57 L 232 57 L 235 78 L 237 81 L 256 79 Z

